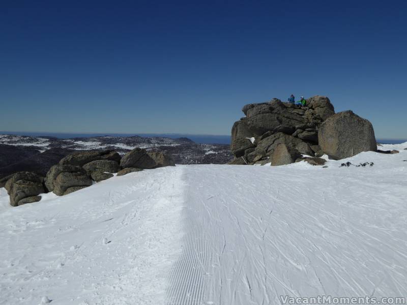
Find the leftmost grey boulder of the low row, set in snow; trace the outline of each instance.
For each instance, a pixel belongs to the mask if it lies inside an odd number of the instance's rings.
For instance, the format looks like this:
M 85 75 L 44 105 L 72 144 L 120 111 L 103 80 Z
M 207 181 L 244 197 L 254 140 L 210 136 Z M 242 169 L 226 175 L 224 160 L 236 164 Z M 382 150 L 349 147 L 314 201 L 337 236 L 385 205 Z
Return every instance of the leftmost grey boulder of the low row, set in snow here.
M 12 206 L 41 200 L 45 192 L 43 179 L 33 172 L 17 172 L 6 182 L 5 188 L 10 196 Z

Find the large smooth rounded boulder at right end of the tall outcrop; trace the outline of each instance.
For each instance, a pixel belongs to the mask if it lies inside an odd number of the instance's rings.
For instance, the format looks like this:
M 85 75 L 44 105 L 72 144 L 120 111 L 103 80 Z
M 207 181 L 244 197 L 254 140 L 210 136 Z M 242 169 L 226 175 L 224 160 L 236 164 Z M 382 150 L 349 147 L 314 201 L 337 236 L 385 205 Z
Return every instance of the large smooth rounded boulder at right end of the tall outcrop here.
M 318 142 L 324 153 L 332 159 L 377 150 L 373 126 L 351 110 L 330 116 L 318 130 Z

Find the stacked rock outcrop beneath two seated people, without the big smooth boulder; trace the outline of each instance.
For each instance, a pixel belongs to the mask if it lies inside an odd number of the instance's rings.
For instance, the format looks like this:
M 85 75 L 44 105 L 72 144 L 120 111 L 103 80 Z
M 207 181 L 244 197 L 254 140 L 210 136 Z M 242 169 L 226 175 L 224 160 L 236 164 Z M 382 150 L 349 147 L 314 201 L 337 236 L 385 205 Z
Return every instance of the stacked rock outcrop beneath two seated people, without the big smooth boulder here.
M 245 105 L 242 111 L 246 116 L 237 121 L 231 131 L 230 149 L 235 160 L 230 164 L 264 164 L 272 159 L 279 144 L 303 155 L 321 156 L 318 129 L 335 113 L 329 99 L 323 96 L 308 99 L 307 106 L 273 99 L 268 103 Z

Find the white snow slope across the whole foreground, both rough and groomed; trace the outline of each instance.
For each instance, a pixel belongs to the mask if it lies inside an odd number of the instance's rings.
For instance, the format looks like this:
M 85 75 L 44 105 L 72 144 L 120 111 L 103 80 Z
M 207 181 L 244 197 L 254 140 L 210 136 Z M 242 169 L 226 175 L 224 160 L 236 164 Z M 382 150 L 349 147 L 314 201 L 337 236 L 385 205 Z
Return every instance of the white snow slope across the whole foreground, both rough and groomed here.
M 328 168 L 144 170 L 14 208 L 2 189 L 0 304 L 406 296 L 405 147 Z

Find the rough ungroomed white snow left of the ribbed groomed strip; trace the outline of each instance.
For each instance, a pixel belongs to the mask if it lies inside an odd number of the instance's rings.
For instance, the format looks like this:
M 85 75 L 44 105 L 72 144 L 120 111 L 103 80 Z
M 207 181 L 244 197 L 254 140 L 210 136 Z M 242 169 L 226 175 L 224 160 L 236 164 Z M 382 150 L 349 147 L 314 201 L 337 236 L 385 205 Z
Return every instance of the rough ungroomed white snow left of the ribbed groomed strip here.
M 163 303 L 180 253 L 180 174 L 144 170 L 0 211 L 0 304 Z

